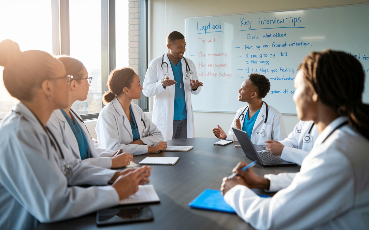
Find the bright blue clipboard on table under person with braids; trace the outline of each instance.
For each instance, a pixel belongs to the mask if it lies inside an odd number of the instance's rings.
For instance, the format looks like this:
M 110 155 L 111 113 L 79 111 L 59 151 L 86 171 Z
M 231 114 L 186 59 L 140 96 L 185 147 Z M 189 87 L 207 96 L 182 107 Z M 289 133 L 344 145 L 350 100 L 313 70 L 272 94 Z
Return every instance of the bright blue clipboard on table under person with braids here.
M 259 197 L 269 197 L 267 195 L 259 195 Z M 199 196 L 197 196 L 188 205 L 191 208 L 206 209 L 217 212 L 236 213 L 230 205 L 228 205 L 219 190 L 207 188 Z

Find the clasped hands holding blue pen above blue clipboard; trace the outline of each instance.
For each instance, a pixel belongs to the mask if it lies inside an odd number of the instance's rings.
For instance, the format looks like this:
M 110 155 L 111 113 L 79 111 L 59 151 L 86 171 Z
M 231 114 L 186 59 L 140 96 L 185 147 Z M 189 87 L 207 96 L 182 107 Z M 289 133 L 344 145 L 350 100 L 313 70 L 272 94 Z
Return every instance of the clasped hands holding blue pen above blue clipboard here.
M 248 188 L 260 188 L 269 190 L 270 181 L 264 177 L 256 175 L 252 170 L 252 167 L 246 169 L 245 171 L 241 171 L 241 169 L 245 166 L 247 166 L 245 162 L 239 162 L 237 166 L 234 167 L 234 169 L 232 170 L 232 173 L 237 173 L 237 175 L 232 179 L 228 179 L 228 177 L 223 178 L 223 183 L 220 188 L 223 196 L 231 188 L 235 187 L 238 184 L 244 185 Z

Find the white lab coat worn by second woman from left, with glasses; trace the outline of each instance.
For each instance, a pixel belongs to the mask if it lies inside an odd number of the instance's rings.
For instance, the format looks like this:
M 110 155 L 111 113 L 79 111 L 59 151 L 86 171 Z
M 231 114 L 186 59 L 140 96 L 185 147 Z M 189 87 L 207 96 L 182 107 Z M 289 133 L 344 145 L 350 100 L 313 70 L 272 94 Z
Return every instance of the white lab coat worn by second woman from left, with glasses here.
M 87 152 L 89 158 L 84 159 L 82 161 L 89 162 L 90 164 L 95 166 L 110 169 L 111 156 L 114 155 L 115 151 L 95 148 L 94 145 L 95 142 L 92 140 L 89 131 L 86 128 L 86 125 L 79 120 L 79 119 L 82 120 L 82 118 L 77 113 L 76 114 L 78 117 L 76 117 L 73 112 L 71 112 L 71 114 L 75 118 L 75 121 L 78 123 L 79 127 L 81 127 L 81 130 L 85 135 L 87 141 Z M 72 128 L 70 128 L 68 121 L 66 120 L 60 109 L 54 110 L 54 112 L 51 114 L 51 117 L 48 120 L 47 125 L 53 133 L 59 132 L 60 136 L 63 137 L 62 140 L 58 141 L 63 142 L 65 146 L 70 150 L 68 151 L 68 153 L 72 153 L 76 159 L 81 160 L 77 139 L 73 133 Z

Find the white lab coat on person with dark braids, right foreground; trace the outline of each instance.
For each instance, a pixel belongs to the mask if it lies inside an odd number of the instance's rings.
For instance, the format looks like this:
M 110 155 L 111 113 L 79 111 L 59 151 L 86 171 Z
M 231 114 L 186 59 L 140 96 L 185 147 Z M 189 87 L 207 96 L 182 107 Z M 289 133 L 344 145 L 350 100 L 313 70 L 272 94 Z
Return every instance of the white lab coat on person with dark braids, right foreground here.
M 273 197 L 236 185 L 224 196 L 255 229 L 369 229 L 369 141 L 332 121 L 318 136 L 299 173 L 268 174 Z M 323 143 L 322 143 L 323 142 Z

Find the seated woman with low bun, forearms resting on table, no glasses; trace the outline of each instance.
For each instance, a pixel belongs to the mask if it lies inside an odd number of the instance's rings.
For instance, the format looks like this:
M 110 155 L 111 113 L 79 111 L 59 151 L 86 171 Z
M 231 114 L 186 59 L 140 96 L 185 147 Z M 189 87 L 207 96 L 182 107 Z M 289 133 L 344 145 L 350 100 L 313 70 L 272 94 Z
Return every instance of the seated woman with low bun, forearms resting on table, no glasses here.
M 132 155 L 155 153 L 166 149 L 163 135 L 142 109 L 132 103 L 141 98 L 141 81 L 132 68 L 113 70 L 108 78 L 109 91 L 103 95 L 106 105 L 96 124 L 100 148 L 123 149 Z

